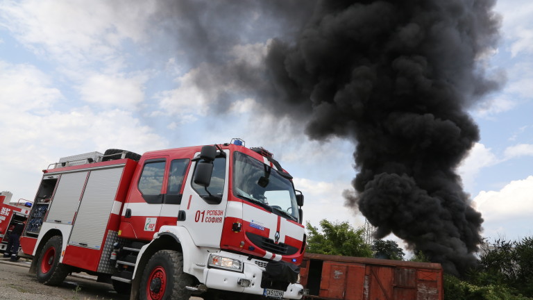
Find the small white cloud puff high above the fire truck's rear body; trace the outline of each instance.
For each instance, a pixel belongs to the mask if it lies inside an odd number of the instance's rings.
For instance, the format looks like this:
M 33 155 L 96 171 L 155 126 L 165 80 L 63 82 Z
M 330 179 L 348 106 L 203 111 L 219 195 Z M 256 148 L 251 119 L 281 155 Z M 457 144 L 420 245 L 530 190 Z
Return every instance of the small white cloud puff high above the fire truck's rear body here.
M 124 74 L 89 76 L 80 87 L 81 99 L 98 106 L 135 109 L 144 100 L 147 76 Z

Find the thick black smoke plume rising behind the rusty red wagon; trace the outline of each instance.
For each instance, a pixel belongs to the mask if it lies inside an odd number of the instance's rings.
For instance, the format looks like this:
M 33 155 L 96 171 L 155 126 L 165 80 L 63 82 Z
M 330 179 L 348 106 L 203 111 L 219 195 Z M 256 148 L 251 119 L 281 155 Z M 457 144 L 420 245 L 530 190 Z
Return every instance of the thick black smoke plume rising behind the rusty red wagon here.
M 314 139 L 357 142 L 347 205 L 454 274 L 473 267 L 482 216 L 456 168 L 479 131 L 466 108 L 499 83 L 492 0 L 319 1 L 294 44 L 267 63 L 279 101 Z M 351 196 L 350 196 L 351 194 Z

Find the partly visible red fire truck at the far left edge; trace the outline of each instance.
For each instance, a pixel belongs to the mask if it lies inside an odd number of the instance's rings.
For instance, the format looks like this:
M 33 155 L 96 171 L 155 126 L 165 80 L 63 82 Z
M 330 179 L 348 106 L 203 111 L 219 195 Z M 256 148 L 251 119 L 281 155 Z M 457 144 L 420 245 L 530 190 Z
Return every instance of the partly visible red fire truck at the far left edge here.
M 11 205 L 11 197 L 10 192 L 0 192 L 0 252 L 2 253 L 6 251 L 11 228 L 26 221 L 31 208 L 31 203 L 27 201 L 19 202 L 21 203 L 19 206 Z

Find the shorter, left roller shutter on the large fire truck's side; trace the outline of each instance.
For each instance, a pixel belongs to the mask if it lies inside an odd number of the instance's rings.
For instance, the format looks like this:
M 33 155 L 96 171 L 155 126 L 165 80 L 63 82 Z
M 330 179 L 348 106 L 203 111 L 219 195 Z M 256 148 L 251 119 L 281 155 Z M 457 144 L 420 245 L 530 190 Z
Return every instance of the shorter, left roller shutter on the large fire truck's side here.
M 46 222 L 72 224 L 88 172 L 62 174 Z

